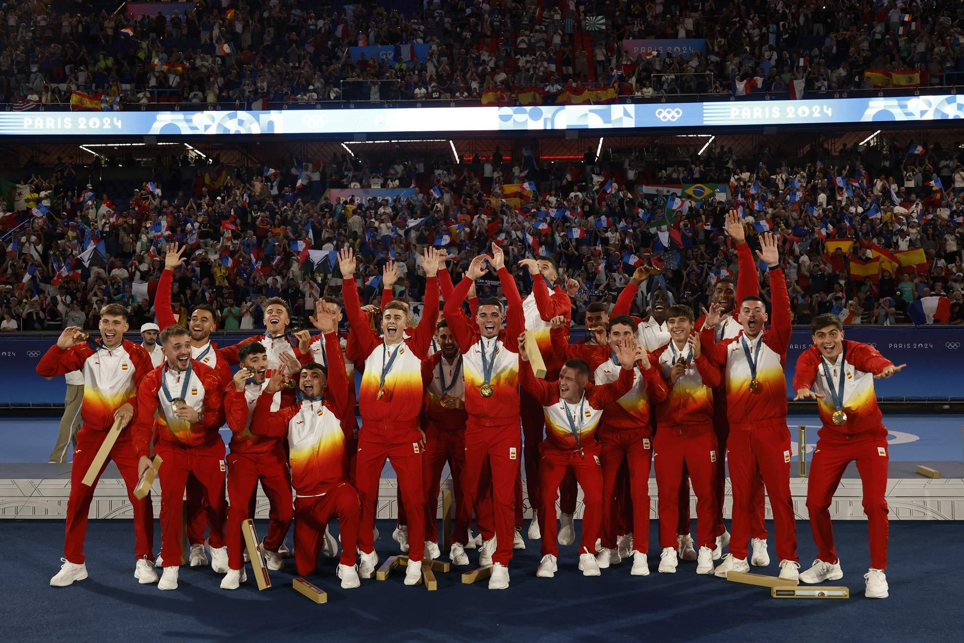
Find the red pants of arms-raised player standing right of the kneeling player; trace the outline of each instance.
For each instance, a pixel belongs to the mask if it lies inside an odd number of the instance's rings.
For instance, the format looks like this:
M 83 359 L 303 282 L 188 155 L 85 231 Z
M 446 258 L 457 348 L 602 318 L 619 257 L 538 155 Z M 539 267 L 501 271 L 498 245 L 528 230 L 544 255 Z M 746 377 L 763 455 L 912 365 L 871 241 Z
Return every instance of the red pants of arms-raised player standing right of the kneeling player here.
M 415 442 L 393 442 L 384 433 L 366 430 L 362 426 L 356 456 L 355 477 L 362 503 L 359 523 L 359 549 L 363 553 L 375 550 L 375 513 L 378 504 L 378 485 L 386 461 L 391 462 L 402 496 L 402 506 L 409 521 L 409 559 L 419 561 L 425 550 L 425 492 L 422 489 L 422 447 Z M 297 515 L 295 516 L 297 519 Z M 298 527 L 295 525 L 295 531 Z M 345 547 L 344 542 L 341 544 Z

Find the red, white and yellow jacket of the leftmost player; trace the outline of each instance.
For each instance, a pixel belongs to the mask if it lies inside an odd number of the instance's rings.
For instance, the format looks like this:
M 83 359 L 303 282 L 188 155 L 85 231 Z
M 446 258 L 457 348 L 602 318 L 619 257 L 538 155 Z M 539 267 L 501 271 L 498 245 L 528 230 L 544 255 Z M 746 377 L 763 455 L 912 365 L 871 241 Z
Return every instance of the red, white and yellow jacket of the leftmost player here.
M 140 344 L 126 339 L 117 348 L 96 351 L 88 342 L 63 350 L 54 344 L 37 362 L 40 377 L 57 377 L 73 370 L 84 373 L 84 400 L 80 416 L 84 426 L 94 431 L 109 431 L 114 413 L 130 402 L 137 414 L 137 387 L 151 370 L 150 356 Z

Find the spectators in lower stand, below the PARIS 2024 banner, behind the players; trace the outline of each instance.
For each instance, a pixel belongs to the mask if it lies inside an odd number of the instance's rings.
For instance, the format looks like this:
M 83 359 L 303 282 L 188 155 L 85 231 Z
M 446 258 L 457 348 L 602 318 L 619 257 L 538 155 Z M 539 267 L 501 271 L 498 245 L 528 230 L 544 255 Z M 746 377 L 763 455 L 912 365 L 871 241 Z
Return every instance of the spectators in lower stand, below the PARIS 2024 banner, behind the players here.
M 168 174 L 144 174 L 150 180 L 129 198 L 88 178 L 105 172 L 98 166 L 28 167 L 18 182 L 0 181 L 0 328 L 95 328 L 98 308 L 112 301 L 132 308 L 139 327 L 153 317 L 148 287 L 173 241 L 193 249 L 175 280 L 181 319 L 211 303 L 226 329 L 260 326 L 258 302 L 275 295 L 307 323 L 321 294 L 340 292 L 331 251 L 345 244 L 362 256 L 358 282 L 370 302 L 386 285 L 389 257 L 394 293 L 419 301 L 417 249 L 448 248 L 459 281 L 469 258 L 495 241 L 513 265 L 526 255 L 556 259 L 579 283 L 576 321 L 592 301 L 614 303 L 640 264 L 657 274 L 640 288 L 637 312 L 664 285 L 673 301 L 699 310 L 711 284 L 736 272 L 723 229 L 729 209 L 741 212 L 751 244 L 765 230 L 780 235 L 797 323 L 828 311 L 849 324 L 923 323 L 913 304 L 934 297 L 950 298 L 936 321 L 961 323 L 959 147 L 876 143 L 836 156 L 817 146 L 789 162 L 779 150 L 747 161 L 710 147 L 669 167 L 672 154 L 659 147 L 618 157 L 603 150 L 599 159 L 590 150 L 572 164 L 527 148 L 458 165 L 451 156 L 362 153 L 279 169 L 184 160 Z M 392 200 L 352 196 L 374 187 L 407 190 Z M 330 189 L 347 198 L 330 199 Z M 514 271 L 528 290 L 527 273 Z M 761 271 L 764 296 L 766 279 Z M 479 288 L 497 294 L 496 285 Z

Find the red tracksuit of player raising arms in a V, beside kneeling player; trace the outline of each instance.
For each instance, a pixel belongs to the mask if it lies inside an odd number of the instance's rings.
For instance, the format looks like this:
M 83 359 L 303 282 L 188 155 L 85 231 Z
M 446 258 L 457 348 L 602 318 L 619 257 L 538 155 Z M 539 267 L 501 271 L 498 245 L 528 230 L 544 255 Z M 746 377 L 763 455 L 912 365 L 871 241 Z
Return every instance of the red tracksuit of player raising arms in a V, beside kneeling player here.
M 421 379 L 421 361 L 428 357 L 428 347 L 435 334 L 434 320 L 439 314 L 439 281 L 426 280 L 425 306 L 415 333 L 398 344 L 386 345 L 382 337 L 371 329 L 368 317 L 359 303 L 358 288 L 352 280 L 342 282 L 345 312 L 351 324 L 352 342 L 359 355 L 354 362 L 364 360 L 359 409 L 362 430 L 359 433 L 356 482 L 362 501 L 362 523 L 359 548 L 364 553 L 374 551 L 372 530 L 375 527 L 375 505 L 378 484 L 386 460 L 398 478 L 405 513 L 409 517 L 409 558 L 421 560 L 425 540 L 425 496 L 421 478 L 421 434 L 418 415 L 421 411 L 425 387 Z M 334 362 L 335 351 L 329 352 Z M 394 362 L 391 362 L 394 356 Z M 388 368 L 389 362 L 391 367 Z M 384 370 L 388 370 L 384 373 Z M 382 377 L 385 376 L 384 387 Z M 381 397 L 379 390 L 383 390 Z

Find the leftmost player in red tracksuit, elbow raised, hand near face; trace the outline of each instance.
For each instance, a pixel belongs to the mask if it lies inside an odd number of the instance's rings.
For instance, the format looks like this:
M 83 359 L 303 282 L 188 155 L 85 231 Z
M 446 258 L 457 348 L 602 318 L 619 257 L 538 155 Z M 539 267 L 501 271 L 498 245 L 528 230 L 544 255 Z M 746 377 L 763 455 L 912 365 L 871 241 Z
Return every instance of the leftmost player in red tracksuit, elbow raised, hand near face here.
M 87 534 L 87 516 L 94 499 L 96 482 L 90 487 L 81 483 L 94 462 L 94 456 L 104 442 L 107 432 L 116 420 L 126 427 L 136 411 L 137 385 L 150 372 L 147 352 L 132 341 L 123 338 L 127 330 L 127 308 L 120 304 L 108 304 L 100 309 L 100 340 L 89 337 L 76 326 L 64 329 L 57 343 L 40 358 L 37 374 L 41 377 L 57 377 L 71 371 L 84 375 L 84 399 L 80 415 L 84 420 L 77 432 L 77 445 L 73 451 L 70 468 L 70 496 L 67 497 L 67 523 L 64 538 L 64 565 L 50 579 L 54 587 L 66 587 L 74 580 L 87 577 L 84 558 L 84 537 Z M 150 495 L 138 500 L 133 491 L 137 486 L 138 470 L 134 457 L 130 429 L 121 431 L 109 460 L 120 470 L 127 497 L 134 508 L 134 550 L 137 564 L 134 577 L 142 584 L 157 581 L 157 573 L 151 565 L 154 543 L 154 510 Z M 104 463 L 107 467 L 107 463 Z M 103 469 L 97 473 L 97 479 Z

